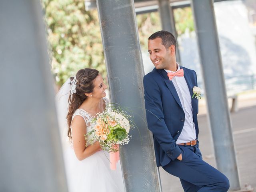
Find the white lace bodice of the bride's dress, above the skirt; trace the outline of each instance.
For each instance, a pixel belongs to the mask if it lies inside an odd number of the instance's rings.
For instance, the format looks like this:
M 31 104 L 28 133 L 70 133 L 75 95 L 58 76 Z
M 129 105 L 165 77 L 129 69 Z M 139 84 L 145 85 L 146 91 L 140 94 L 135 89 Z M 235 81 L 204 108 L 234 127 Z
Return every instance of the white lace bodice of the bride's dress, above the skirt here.
M 103 98 L 104 102 L 105 102 L 105 105 L 107 106 L 109 104 L 109 100 L 108 98 L 104 97 Z M 86 112 L 86 110 L 83 110 L 83 109 L 77 109 L 74 114 L 72 115 L 72 121 L 74 119 L 75 116 L 81 116 L 82 118 L 84 118 L 84 121 L 85 121 L 85 124 L 86 124 L 86 132 L 89 132 L 90 130 L 92 130 L 92 128 L 94 127 L 95 123 L 94 124 L 91 124 L 92 122 L 92 117 L 88 112 Z M 72 123 L 72 122 L 71 122 Z M 71 134 L 72 134 L 72 127 L 71 127 Z M 88 138 L 90 139 L 90 138 Z

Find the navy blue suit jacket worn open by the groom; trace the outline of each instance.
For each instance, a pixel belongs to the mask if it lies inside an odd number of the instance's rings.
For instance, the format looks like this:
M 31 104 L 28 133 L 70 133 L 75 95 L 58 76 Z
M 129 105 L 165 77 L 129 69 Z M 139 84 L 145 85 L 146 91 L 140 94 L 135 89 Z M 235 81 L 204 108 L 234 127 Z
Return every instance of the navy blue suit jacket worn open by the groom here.
M 188 84 L 191 97 L 193 87 L 197 86 L 196 72 L 185 67 L 184 78 Z M 157 70 L 144 76 L 144 94 L 148 129 L 154 137 L 156 165 L 165 166 L 180 155 L 176 141 L 182 132 L 185 113 L 182 109 L 178 93 L 164 69 Z M 192 98 L 193 120 L 198 138 L 198 100 Z

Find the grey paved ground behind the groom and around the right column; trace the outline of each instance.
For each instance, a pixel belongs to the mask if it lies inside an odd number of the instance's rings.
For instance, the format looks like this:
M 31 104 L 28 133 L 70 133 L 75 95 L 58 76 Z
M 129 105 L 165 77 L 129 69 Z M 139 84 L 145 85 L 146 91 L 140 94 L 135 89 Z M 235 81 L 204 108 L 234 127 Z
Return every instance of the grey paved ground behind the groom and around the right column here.
M 240 184 L 241 187 L 250 184 L 256 192 L 256 92 L 238 96 L 238 106 L 238 112 L 231 114 L 231 121 Z M 200 110 L 198 116 L 200 150 L 203 159 L 216 167 L 204 101 L 201 101 Z M 163 192 L 183 192 L 178 178 L 166 173 L 162 168 L 159 170 Z

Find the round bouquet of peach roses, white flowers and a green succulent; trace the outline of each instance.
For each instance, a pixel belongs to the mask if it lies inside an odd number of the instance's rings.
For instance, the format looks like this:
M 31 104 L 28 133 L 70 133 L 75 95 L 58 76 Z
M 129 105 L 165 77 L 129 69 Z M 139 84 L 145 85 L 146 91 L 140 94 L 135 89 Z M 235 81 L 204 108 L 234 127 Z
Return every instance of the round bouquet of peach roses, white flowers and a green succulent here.
M 132 122 L 131 116 L 120 108 L 107 106 L 104 112 L 93 118 L 92 124 L 95 125 L 85 135 L 87 145 L 98 141 L 102 150 L 117 152 L 119 144 L 128 144 L 132 138 L 128 133 L 134 125 L 129 120 Z M 89 136 L 90 139 L 88 140 Z

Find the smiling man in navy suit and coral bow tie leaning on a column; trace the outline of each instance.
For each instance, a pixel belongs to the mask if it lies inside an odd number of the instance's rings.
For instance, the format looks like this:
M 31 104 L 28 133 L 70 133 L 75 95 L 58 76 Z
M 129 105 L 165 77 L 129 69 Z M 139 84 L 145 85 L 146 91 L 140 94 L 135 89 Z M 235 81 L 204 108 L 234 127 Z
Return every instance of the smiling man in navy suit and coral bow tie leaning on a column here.
M 180 178 L 186 192 L 226 192 L 224 174 L 202 160 L 198 147 L 196 72 L 176 62 L 176 39 L 167 31 L 148 38 L 155 68 L 144 76 L 148 128 L 153 133 L 157 166 Z

